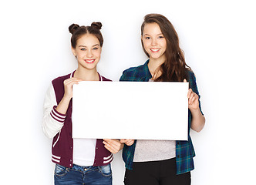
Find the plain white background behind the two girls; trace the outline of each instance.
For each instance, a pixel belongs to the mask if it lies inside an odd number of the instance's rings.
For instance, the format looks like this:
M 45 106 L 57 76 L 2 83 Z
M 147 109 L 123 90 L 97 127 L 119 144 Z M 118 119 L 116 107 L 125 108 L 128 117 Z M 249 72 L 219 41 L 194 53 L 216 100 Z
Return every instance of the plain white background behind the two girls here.
M 254 10 L 248 0 L 1 2 L 0 183 L 53 183 L 42 103 L 51 80 L 76 69 L 69 25 L 103 23 L 98 69 L 117 81 L 124 69 L 146 61 L 140 25 L 152 12 L 167 16 L 177 29 L 207 119 L 201 133 L 191 133 L 197 153 L 192 184 L 254 183 Z M 114 185 L 123 184 L 123 169 L 118 153 Z

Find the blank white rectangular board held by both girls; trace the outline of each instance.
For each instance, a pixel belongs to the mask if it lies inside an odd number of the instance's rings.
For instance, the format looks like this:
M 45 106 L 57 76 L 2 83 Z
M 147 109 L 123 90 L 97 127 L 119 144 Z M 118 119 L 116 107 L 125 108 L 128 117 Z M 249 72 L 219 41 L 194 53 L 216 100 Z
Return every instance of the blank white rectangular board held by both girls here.
M 187 82 L 79 82 L 72 137 L 187 140 Z

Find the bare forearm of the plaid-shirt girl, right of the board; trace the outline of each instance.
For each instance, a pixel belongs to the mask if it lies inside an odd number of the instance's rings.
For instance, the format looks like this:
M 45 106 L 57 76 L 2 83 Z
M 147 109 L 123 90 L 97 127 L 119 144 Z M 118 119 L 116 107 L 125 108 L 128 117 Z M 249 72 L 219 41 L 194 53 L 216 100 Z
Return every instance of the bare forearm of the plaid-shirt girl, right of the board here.
M 191 129 L 199 133 L 204 128 L 205 118 L 200 109 L 190 110 L 192 114 Z

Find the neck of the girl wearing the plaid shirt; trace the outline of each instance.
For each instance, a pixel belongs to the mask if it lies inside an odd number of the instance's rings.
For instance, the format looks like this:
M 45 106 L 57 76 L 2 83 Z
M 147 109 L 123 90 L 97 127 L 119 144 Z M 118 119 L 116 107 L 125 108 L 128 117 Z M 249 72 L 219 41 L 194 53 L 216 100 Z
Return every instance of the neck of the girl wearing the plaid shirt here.
M 150 58 L 150 62 L 148 63 L 148 68 L 150 70 L 152 79 L 157 79 L 159 76 L 161 76 L 160 72 L 160 66 L 165 62 L 165 57 L 164 58 L 159 58 L 159 59 L 152 59 Z

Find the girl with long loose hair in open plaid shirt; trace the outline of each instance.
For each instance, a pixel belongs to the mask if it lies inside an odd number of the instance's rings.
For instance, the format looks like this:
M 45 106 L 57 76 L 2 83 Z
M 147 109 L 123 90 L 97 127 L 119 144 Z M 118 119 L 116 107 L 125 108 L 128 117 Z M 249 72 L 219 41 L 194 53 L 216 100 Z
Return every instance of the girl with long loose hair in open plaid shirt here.
M 123 148 L 123 160 L 126 163 L 124 183 L 190 184 L 190 171 L 194 169 L 195 156 L 190 128 L 200 132 L 205 123 L 194 72 L 185 62 L 177 32 L 163 15 L 145 16 L 141 25 L 141 42 L 150 59 L 142 66 L 126 69 L 120 81 L 189 82 L 188 140 L 122 140 L 126 143 Z M 153 113 L 154 109 L 163 107 L 152 107 L 148 109 L 149 114 Z

